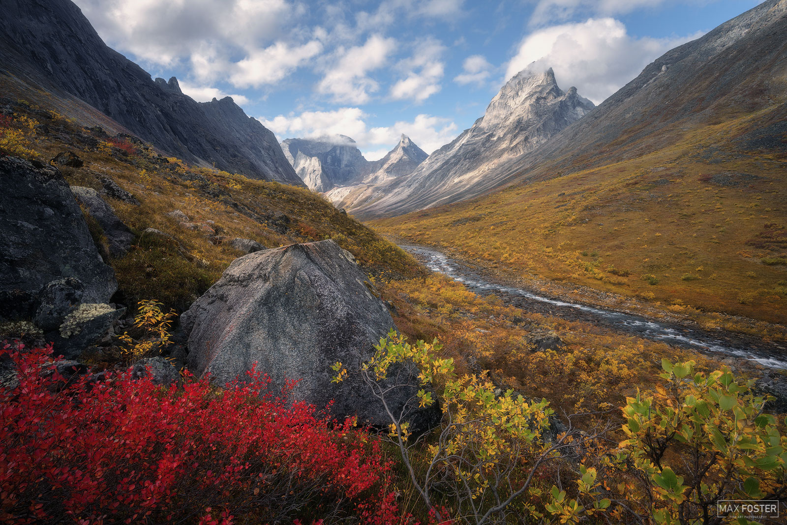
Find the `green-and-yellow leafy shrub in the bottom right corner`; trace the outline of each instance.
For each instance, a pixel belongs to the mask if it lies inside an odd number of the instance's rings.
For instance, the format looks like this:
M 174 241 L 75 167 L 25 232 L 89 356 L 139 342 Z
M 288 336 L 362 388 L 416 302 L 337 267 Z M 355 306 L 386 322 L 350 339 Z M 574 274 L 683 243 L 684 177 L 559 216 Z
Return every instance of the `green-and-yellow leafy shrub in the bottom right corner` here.
M 719 501 L 787 500 L 787 437 L 767 398 L 728 368 L 704 375 L 693 364 L 663 360 L 667 388 L 627 398 L 618 460 L 638 482 L 626 499 L 656 523 L 705 525 L 733 517 L 717 516 Z

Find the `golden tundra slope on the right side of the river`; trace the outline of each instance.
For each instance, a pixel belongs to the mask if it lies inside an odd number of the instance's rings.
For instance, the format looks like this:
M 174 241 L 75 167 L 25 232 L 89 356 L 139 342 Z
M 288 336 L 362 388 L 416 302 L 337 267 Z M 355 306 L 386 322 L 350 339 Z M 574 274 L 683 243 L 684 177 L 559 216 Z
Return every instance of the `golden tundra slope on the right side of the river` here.
M 547 293 L 784 341 L 787 159 L 731 142 L 759 117 L 371 224 Z

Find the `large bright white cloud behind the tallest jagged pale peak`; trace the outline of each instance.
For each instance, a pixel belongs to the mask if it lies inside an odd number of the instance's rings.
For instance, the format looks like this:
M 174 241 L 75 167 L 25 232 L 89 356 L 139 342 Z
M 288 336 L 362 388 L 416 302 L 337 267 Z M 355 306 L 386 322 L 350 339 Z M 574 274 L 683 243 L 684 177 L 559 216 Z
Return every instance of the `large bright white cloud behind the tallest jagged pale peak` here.
M 519 43 L 505 78 L 524 68 L 551 67 L 564 91 L 575 86 L 579 94 L 598 104 L 639 75 L 656 57 L 699 36 L 637 39 L 613 18 L 556 25 L 534 31 Z

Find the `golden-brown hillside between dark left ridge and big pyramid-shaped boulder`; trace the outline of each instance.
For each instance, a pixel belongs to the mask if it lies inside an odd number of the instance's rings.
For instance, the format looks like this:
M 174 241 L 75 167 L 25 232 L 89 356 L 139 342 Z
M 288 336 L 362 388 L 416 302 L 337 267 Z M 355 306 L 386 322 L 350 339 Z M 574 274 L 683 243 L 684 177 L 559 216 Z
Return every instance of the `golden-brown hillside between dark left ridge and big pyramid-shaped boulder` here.
M 84 165 L 61 167 L 68 183 L 102 191 L 107 177 L 139 201 L 107 199 L 136 235 L 124 257 L 104 253 L 127 304 L 156 298 L 168 307 L 187 308 L 243 254 L 230 246 L 233 238 L 268 248 L 332 238 L 371 275 L 423 272 L 407 253 L 305 188 L 187 165 L 134 138 L 84 128 L 44 105 L 6 98 L 4 106 L 8 128 L 21 134 L 16 153 L 46 163 L 72 151 Z M 168 215 L 175 210 L 185 213 L 187 222 Z M 94 238 L 105 242 L 98 224 L 86 217 Z M 147 228 L 165 235 L 151 235 Z

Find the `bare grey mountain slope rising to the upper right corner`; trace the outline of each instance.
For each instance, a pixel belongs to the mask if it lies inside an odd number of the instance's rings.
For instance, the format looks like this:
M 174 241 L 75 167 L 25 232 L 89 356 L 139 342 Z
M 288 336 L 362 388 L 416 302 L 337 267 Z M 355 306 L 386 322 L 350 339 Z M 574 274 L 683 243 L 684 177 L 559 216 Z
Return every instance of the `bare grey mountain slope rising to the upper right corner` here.
M 748 115 L 748 132 L 730 137 L 727 149 L 783 153 L 785 83 L 787 0 L 768 0 L 667 51 L 588 116 L 490 176 L 501 183 L 547 179 L 628 161 L 677 144 L 693 129 Z M 705 154 L 719 157 L 718 146 Z

